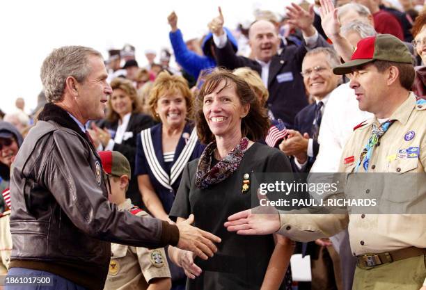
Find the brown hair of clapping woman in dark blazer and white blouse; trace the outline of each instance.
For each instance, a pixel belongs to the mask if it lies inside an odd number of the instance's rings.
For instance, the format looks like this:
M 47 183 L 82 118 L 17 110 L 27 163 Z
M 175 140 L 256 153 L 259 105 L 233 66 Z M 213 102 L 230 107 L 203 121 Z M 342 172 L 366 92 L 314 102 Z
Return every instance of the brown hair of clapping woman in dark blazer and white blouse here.
M 132 113 L 141 113 L 141 106 L 137 97 L 136 88 L 134 88 L 132 81 L 130 81 L 129 79 L 124 79 L 122 77 L 118 77 L 111 81 L 111 88 L 113 90 L 123 90 L 123 92 L 125 92 L 126 95 L 128 95 L 129 98 L 132 100 Z M 106 119 L 109 122 L 117 122 L 118 119 L 120 119 L 118 113 L 116 113 L 112 108 L 111 97 L 109 97 L 108 99 Z

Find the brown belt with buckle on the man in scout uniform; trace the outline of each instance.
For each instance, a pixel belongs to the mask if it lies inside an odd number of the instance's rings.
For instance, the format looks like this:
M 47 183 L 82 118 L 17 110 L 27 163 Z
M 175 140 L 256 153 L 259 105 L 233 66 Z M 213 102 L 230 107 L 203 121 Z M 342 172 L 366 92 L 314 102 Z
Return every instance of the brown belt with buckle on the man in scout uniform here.
M 372 268 L 381 264 L 391 263 L 393 261 L 417 257 L 420 255 L 426 255 L 426 249 L 410 247 L 401 250 L 396 250 L 393 252 L 381 252 L 380 254 L 365 254 L 356 257 L 358 259 L 356 265 L 359 268 Z

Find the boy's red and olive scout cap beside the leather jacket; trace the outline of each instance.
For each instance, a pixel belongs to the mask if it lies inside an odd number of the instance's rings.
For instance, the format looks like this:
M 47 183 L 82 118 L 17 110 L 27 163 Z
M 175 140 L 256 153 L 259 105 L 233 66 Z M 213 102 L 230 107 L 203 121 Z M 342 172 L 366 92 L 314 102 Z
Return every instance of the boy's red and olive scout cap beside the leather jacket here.
M 102 162 L 102 168 L 109 175 L 114 175 L 121 177 L 122 175 L 127 175 L 129 177 L 132 175 L 130 170 L 130 164 L 127 158 L 118 151 L 100 151 L 99 156 Z

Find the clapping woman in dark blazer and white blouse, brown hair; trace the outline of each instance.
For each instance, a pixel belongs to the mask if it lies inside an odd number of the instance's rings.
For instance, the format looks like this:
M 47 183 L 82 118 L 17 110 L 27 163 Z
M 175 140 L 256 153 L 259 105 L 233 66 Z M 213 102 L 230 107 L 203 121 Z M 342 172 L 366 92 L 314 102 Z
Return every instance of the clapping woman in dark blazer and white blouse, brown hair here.
M 93 125 L 92 134 L 95 145 L 102 150 L 114 150 L 122 153 L 129 160 L 132 169 L 127 198 L 142 207 L 142 196 L 139 192 L 137 178 L 134 175 L 134 159 L 136 155 L 136 135 L 143 129 L 152 127 L 154 120 L 141 112 L 141 107 L 132 81 L 123 78 L 113 79 L 113 89 L 108 100 L 107 117 L 100 127 Z M 97 143 L 97 144 L 96 144 Z

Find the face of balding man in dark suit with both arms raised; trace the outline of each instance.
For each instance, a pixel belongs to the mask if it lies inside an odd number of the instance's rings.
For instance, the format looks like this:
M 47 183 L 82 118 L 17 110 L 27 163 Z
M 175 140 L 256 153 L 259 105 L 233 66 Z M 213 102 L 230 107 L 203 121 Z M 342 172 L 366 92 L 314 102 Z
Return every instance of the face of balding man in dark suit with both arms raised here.
M 255 22 L 251 26 L 248 36 L 255 58 L 265 63 L 269 62 L 276 54 L 280 43 L 274 24 L 265 20 Z

